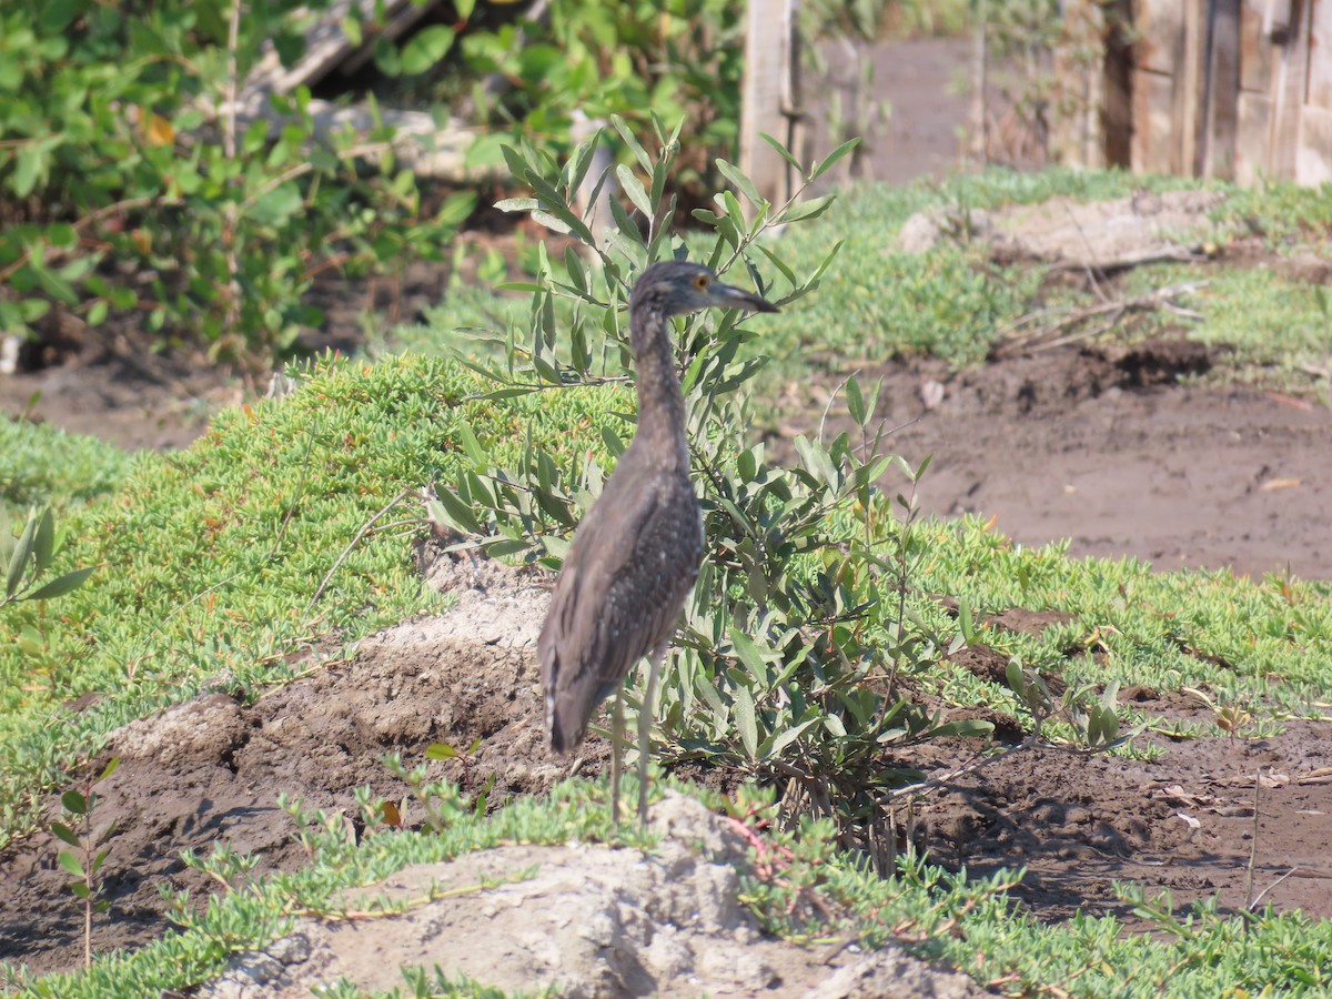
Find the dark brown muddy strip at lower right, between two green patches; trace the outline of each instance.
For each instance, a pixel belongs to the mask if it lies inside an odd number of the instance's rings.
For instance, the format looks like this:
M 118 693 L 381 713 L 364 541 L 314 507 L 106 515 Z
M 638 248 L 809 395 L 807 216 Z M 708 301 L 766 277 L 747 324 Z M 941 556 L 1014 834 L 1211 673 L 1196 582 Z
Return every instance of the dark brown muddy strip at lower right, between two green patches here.
M 1264 900 L 1279 910 L 1332 916 L 1323 852 L 1332 834 L 1332 726 L 1296 722 L 1265 739 L 1144 742 L 1167 755 L 1016 751 L 952 781 L 919 810 L 931 859 L 975 875 L 1026 866 L 1014 895 L 1044 919 L 1082 910 L 1132 923 L 1115 880 L 1169 888 L 1176 903 L 1216 895 L 1223 911 L 1271 888 Z

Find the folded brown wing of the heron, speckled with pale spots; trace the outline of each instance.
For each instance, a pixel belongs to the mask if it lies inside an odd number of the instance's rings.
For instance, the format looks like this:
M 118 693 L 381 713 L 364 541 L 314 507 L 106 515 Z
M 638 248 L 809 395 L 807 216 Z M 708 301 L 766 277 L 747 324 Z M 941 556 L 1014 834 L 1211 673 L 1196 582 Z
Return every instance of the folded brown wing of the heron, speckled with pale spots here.
M 551 749 L 578 746 L 597 705 L 670 638 L 702 554 L 689 480 L 626 453 L 578 527 L 537 643 Z

